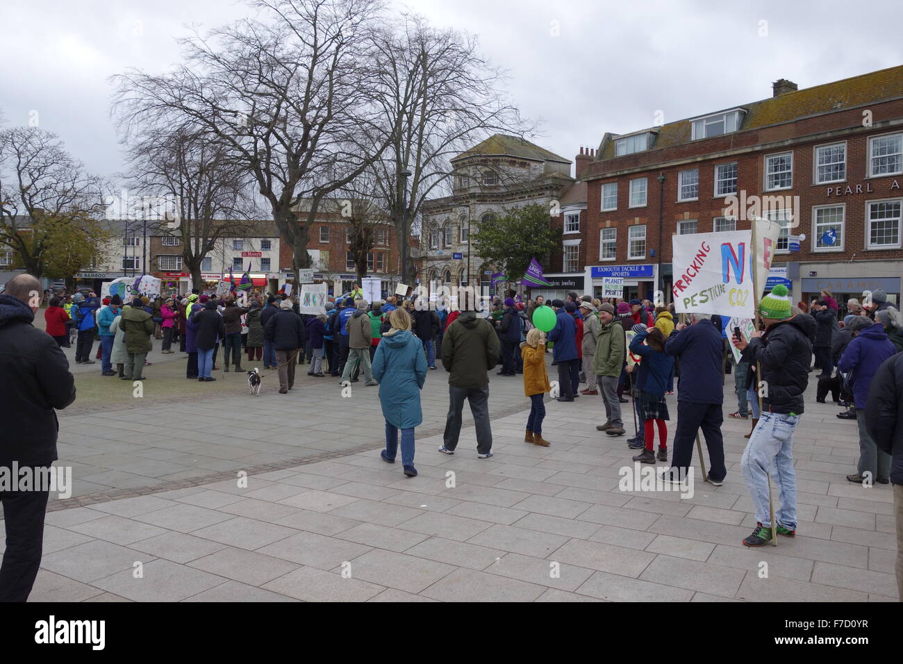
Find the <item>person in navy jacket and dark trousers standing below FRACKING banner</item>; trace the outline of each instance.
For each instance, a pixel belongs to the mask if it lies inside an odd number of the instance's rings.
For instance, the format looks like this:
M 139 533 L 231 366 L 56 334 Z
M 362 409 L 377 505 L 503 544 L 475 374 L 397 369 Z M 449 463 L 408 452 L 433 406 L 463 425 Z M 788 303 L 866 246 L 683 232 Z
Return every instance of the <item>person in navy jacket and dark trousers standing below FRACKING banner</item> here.
M 679 323 L 665 343 L 665 352 L 680 359 L 680 379 L 677 383 L 677 429 L 671 472 L 666 482 L 682 482 L 693 460 L 696 433 L 703 430 L 705 446 L 709 449 L 709 482 L 721 486 L 728 470 L 724 465 L 724 439 L 721 424 L 724 414 L 723 378 L 721 365 L 721 330 L 712 325 L 711 317 L 702 313 L 688 313 L 692 323 Z M 674 471 L 678 474 L 674 474 Z

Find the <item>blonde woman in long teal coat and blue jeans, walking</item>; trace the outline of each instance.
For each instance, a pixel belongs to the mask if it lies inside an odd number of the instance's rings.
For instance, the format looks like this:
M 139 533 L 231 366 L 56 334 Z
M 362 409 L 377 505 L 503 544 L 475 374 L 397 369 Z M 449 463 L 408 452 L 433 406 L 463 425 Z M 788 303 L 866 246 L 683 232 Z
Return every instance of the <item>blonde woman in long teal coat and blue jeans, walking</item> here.
M 411 316 L 404 309 L 389 313 L 392 329 L 383 334 L 373 358 L 373 379 L 379 383 L 379 403 L 386 418 L 383 461 L 395 463 L 401 429 L 401 463 L 414 477 L 414 426 L 424 421 L 420 390 L 426 380 L 423 343 L 411 333 Z

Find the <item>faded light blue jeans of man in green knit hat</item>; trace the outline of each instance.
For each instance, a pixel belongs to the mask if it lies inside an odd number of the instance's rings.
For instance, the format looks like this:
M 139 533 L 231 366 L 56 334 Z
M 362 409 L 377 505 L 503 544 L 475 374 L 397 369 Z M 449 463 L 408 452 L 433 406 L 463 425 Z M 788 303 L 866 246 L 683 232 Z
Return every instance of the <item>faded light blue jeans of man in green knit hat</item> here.
M 793 432 L 800 416 L 784 413 L 762 413 L 759 424 L 749 436 L 743 450 L 740 470 L 756 507 L 756 520 L 771 528 L 768 512 L 768 473 L 777 484 L 780 507 L 777 523 L 796 529 L 796 472 L 793 468 Z

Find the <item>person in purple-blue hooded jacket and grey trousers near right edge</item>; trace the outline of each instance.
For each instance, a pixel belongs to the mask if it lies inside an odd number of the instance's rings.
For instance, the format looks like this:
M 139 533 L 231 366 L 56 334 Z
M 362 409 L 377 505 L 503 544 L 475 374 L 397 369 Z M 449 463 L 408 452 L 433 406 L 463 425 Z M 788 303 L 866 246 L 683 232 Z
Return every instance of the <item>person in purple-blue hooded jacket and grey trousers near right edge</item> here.
M 880 450 L 869 435 L 865 407 L 875 372 L 884 360 L 897 353 L 897 349 L 888 339 L 884 325 L 873 324 L 868 318 L 857 316 L 850 324 L 850 330 L 853 338 L 837 365 L 837 369 L 850 374 L 852 402 L 856 409 L 856 423 L 859 426 L 859 463 L 856 472 L 847 475 L 847 480 L 856 484 L 874 482 L 887 484 L 890 476 L 890 454 Z

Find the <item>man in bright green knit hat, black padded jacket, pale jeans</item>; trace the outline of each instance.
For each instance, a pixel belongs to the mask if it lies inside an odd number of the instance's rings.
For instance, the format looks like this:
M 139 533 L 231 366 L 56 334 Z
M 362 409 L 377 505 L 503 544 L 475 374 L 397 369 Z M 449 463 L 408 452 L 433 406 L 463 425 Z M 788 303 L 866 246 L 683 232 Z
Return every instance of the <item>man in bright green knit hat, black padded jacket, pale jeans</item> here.
M 762 412 L 759 424 L 749 436 L 740 470 L 749 487 L 759 523 L 743 540 L 747 547 L 761 547 L 771 540 L 768 509 L 768 473 L 777 484 L 780 509 L 775 515 L 777 534 L 796 535 L 796 473 L 793 467 L 793 433 L 803 415 L 803 395 L 809 382 L 809 361 L 815 319 L 790 309 L 787 286 L 776 285 L 759 302 L 759 316 L 765 332 L 755 332 L 749 343 L 734 337 L 742 360 L 759 362 L 759 393 Z

